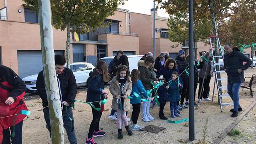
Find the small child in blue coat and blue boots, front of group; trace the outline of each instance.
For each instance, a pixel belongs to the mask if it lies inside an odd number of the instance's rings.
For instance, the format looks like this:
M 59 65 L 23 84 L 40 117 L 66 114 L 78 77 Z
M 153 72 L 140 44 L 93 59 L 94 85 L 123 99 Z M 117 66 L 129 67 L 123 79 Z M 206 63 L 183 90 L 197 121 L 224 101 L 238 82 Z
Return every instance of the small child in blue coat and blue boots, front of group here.
M 171 82 L 170 88 L 168 90 L 168 94 L 171 97 L 170 109 L 171 109 L 171 117 L 172 118 L 176 118 L 176 116 L 179 117 L 177 102 L 180 101 L 179 90 L 182 89 L 182 85 L 179 82 L 179 80 L 178 80 L 179 78 L 177 78 L 177 76 L 178 76 L 177 72 L 172 72 L 172 76 L 171 76 L 172 82 Z

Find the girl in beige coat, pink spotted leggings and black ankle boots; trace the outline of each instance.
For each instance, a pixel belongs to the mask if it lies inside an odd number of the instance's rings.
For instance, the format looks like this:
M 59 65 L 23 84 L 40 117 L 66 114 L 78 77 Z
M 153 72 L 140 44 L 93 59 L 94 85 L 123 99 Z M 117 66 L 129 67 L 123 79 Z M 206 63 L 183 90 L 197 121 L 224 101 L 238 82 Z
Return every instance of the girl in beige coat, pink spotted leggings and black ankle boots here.
M 113 95 L 112 109 L 117 111 L 118 138 L 122 135 L 122 120 L 128 135 L 132 135 L 129 128 L 126 111 L 130 109 L 130 99 L 127 97 L 131 94 L 131 77 L 129 77 L 129 69 L 125 65 L 118 67 L 117 75 L 113 77 L 110 85 L 110 93 Z

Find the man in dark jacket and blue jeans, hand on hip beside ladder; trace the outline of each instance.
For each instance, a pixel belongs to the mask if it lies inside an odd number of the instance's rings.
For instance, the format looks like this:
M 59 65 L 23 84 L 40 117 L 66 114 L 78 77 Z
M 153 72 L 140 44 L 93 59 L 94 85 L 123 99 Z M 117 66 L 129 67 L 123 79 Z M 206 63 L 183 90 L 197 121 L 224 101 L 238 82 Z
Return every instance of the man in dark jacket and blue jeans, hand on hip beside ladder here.
M 233 112 L 231 117 L 237 117 L 237 111 L 242 111 L 239 104 L 239 89 L 241 83 L 243 83 L 243 73 L 252 64 L 250 58 L 246 57 L 243 53 L 239 51 L 233 51 L 232 44 L 228 43 L 225 45 L 224 49 L 226 54 L 224 54 L 224 70 L 227 73 L 227 93 L 230 95 L 234 102 L 234 109 L 230 111 Z M 243 65 L 243 62 L 247 62 Z

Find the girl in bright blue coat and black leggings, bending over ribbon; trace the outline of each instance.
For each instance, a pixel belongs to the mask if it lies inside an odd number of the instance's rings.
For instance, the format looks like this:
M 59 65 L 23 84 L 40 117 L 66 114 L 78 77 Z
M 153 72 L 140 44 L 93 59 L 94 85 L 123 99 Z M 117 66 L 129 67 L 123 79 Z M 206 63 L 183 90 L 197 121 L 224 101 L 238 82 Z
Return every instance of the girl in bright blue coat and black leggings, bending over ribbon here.
M 137 125 L 138 117 L 141 111 L 141 99 L 138 99 L 134 92 L 137 93 L 140 97 L 144 97 L 145 99 L 148 99 L 147 91 L 145 90 L 141 80 L 140 80 L 141 74 L 140 71 L 137 69 L 134 69 L 131 71 L 131 81 L 132 81 L 132 92 L 131 96 L 132 99 L 130 99 L 130 103 L 132 105 L 132 113 L 131 113 L 131 130 L 140 130 L 142 129 L 142 126 Z

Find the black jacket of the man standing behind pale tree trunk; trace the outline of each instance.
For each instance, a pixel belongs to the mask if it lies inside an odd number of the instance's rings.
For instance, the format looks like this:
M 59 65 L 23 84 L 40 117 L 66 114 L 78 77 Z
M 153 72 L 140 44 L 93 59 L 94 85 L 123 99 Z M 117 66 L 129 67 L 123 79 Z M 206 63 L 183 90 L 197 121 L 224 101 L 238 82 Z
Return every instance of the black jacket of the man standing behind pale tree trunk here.
M 77 81 L 71 69 L 64 68 L 62 74 L 57 74 L 57 81 L 60 83 L 61 93 L 60 97 L 62 102 L 66 101 L 71 107 L 74 103 L 74 99 L 77 95 Z M 44 72 L 41 71 L 38 74 L 36 80 L 36 88 L 39 96 L 42 99 L 43 107 L 48 106 L 47 95 L 45 90 Z M 65 110 L 65 109 L 63 109 Z

